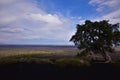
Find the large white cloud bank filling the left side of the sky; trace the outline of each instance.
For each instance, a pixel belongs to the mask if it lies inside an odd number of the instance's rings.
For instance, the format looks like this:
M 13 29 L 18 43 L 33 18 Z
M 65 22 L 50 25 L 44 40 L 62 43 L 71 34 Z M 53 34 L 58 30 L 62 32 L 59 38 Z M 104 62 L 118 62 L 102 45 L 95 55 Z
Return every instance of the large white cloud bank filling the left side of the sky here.
M 35 0 L 0 0 L 0 43 L 22 39 L 69 41 L 73 22 L 38 8 Z

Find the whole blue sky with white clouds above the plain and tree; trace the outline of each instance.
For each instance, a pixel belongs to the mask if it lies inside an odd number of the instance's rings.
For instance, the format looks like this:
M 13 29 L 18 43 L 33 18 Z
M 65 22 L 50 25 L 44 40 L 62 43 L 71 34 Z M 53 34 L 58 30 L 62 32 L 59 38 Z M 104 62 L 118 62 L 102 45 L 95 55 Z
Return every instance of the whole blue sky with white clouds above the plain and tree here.
M 0 44 L 73 45 L 76 24 L 120 22 L 120 0 L 0 0 Z

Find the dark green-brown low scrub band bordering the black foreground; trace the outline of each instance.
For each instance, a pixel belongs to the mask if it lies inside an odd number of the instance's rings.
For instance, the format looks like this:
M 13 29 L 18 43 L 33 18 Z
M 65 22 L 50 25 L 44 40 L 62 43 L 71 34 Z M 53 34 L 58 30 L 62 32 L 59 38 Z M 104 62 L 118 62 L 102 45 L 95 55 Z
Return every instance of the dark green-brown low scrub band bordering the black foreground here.
M 85 67 L 89 66 L 90 63 L 85 58 L 40 58 L 36 56 L 42 56 L 41 54 L 21 54 L 15 56 L 7 56 L 0 58 L 0 65 L 14 64 L 14 63 L 28 63 L 28 64 L 50 64 L 58 67 Z

